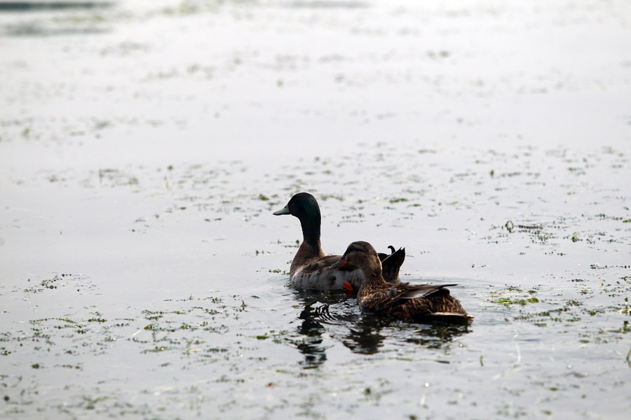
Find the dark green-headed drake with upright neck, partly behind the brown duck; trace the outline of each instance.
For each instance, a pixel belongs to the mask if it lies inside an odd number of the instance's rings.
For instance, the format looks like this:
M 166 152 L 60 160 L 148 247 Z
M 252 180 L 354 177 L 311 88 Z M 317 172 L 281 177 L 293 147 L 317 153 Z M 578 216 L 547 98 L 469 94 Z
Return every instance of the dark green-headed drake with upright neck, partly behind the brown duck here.
M 273 214 L 280 216 L 291 214 L 296 216 L 302 227 L 302 244 L 292 260 L 290 267 L 290 281 L 296 288 L 313 290 L 344 290 L 344 285 L 350 283 L 353 287 L 359 288 L 364 276 L 358 267 L 346 265 L 341 268 L 330 268 L 334 262 L 339 260 L 340 255 L 325 255 L 320 245 L 320 206 L 315 197 L 309 193 L 298 193 L 294 195 L 287 205 Z M 380 263 L 384 267 L 386 280 L 391 284 L 397 284 L 399 280 L 399 269 L 405 260 L 405 248 L 392 253 L 382 254 Z

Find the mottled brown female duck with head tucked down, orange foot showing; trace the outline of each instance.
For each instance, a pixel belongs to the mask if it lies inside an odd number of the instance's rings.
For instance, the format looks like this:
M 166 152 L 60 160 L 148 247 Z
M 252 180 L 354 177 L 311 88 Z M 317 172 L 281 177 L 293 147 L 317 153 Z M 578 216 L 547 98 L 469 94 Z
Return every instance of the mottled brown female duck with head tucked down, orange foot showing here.
M 359 267 L 364 281 L 359 288 L 357 301 L 364 312 L 388 314 L 412 321 L 446 321 L 468 323 L 473 316 L 467 314 L 458 300 L 449 295 L 448 286 L 443 284 L 412 285 L 400 283 L 395 286 L 384 280 L 379 255 L 367 242 L 353 242 L 341 258 L 330 269 L 344 269 L 346 265 Z M 351 283 L 345 285 L 353 290 Z M 356 289 L 355 289 L 356 290 Z

